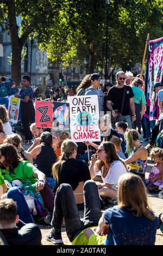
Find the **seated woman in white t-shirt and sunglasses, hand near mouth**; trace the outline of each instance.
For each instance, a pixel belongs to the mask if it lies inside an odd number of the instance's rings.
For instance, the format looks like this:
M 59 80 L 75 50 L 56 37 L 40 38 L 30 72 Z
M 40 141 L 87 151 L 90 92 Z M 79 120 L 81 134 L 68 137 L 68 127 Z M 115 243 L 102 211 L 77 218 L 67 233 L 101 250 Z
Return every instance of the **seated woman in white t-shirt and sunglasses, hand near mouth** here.
M 103 183 L 97 187 L 105 204 L 111 201 L 113 204 L 116 202 L 118 179 L 124 173 L 127 173 L 126 165 L 116 154 L 114 144 L 111 142 L 101 143 L 97 149 L 97 154 L 91 157 L 90 175 L 91 179 L 96 175 L 101 175 Z

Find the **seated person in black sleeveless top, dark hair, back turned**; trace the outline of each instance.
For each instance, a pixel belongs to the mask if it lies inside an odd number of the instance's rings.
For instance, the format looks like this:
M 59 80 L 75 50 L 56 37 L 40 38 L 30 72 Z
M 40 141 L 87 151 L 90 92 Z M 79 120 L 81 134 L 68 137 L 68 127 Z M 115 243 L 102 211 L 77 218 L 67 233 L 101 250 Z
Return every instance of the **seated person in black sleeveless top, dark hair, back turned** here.
M 40 145 L 37 145 L 30 154 L 36 156 L 37 169 L 46 175 L 46 182 L 51 186 L 52 190 L 55 185 L 55 179 L 52 175 L 52 166 L 57 161 L 52 144 L 53 136 L 49 132 L 42 132 L 40 135 Z

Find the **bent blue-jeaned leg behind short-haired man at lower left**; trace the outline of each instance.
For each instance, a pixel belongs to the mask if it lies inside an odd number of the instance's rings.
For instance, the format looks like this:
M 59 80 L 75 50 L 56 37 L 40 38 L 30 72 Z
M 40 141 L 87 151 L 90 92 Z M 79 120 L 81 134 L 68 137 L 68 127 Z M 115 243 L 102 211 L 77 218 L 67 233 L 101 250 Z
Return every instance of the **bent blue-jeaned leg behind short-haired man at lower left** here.
M 24 223 L 33 223 L 33 217 L 26 203 L 26 199 L 17 187 L 11 187 L 7 192 L 7 198 L 12 198 L 17 204 L 17 215 Z

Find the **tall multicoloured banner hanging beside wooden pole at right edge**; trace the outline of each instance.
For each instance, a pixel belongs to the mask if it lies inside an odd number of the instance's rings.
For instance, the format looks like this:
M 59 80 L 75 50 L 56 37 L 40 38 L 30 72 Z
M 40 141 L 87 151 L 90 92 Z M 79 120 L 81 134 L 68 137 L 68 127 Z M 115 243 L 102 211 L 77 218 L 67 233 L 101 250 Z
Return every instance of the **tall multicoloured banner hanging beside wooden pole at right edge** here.
M 146 99 L 145 117 L 149 120 L 159 118 L 158 94 L 153 91 L 154 83 L 163 82 L 163 37 L 149 41 L 146 69 Z

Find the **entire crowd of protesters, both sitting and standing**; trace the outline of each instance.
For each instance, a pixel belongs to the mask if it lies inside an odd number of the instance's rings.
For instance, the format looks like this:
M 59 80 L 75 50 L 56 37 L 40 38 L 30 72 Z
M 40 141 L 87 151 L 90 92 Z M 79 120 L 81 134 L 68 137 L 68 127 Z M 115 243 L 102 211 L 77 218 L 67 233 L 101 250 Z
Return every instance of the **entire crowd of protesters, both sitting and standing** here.
M 76 92 L 64 88 L 68 96 L 98 97 L 101 142 L 76 143 L 68 131 L 36 127 L 39 88 L 30 86 L 29 76 L 17 88 L 11 78 L 0 78 L 0 237 L 5 244 L 41 245 L 38 224 L 51 225 L 46 239 L 60 244 L 65 224 L 72 245 L 154 245 L 156 230 L 163 233 L 163 210 L 156 216 L 147 194 L 163 189 L 163 84 L 153 86 L 157 122 L 144 115 L 141 75 L 119 71 L 116 85 L 102 88 L 99 74 L 91 74 Z M 10 95 L 21 102 L 23 136 L 8 118 Z M 48 87 L 45 95 L 52 99 Z M 63 88 L 52 95 L 53 101 L 66 102 Z M 146 179 L 148 157 L 154 166 Z M 82 221 L 79 210 L 84 210 Z

